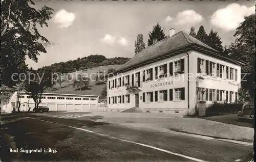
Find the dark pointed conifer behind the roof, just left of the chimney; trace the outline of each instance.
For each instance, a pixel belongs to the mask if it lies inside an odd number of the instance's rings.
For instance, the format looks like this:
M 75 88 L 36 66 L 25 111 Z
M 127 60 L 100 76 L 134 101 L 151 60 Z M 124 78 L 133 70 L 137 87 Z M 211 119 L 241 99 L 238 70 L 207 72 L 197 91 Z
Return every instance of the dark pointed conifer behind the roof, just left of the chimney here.
M 154 39 L 157 39 L 157 41 L 160 41 L 164 38 L 167 38 L 167 36 L 165 36 L 164 31 L 159 23 L 153 26 L 153 30 L 152 32 L 148 33 L 148 36 L 150 37 L 150 39 L 147 39 L 147 46 L 152 45 Z

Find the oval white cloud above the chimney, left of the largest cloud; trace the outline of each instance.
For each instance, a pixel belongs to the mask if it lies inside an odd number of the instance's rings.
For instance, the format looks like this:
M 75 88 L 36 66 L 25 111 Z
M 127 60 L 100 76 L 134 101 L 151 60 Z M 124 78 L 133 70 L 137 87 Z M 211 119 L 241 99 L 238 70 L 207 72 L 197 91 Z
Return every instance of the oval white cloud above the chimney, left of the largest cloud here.
M 204 18 L 194 10 L 184 10 L 177 14 L 176 24 L 183 26 L 193 26 L 200 23 Z

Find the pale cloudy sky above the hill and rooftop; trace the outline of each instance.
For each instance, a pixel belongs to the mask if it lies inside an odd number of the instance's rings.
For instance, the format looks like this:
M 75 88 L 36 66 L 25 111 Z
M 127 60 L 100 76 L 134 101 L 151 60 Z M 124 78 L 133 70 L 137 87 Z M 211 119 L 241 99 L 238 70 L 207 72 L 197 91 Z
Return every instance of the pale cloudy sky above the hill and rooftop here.
M 165 35 L 169 29 L 189 33 L 203 25 L 206 33 L 217 31 L 223 45 L 235 40 L 236 28 L 255 12 L 253 1 L 34 1 L 34 8 L 54 9 L 49 26 L 38 31 L 50 42 L 47 53 L 38 62 L 26 60 L 34 69 L 90 55 L 106 58 L 135 55 L 134 43 L 143 34 L 147 45 L 148 33 L 160 23 Z

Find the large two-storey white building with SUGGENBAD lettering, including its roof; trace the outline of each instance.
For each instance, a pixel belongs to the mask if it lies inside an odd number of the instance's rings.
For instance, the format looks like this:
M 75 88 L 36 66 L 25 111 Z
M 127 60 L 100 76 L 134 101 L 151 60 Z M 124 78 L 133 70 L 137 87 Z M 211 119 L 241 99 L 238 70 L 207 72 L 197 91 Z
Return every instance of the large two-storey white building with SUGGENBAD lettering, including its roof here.
M 237 99 L 244 62 L 185 32 L 169 33 L 108 77 L 108 111 L 138 107 L 142 112 L 187 115 L 212 101 Z

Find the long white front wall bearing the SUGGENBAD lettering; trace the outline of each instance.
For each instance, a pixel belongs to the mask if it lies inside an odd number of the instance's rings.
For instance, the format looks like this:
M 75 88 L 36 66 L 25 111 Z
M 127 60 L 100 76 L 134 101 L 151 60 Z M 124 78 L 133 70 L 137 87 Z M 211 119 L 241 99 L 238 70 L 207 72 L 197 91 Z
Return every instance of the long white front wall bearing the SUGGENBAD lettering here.
M 167 63 L 167 73 L 169 74 L 169 65 L 170 62 L 179 61 L 181 59 L 184 59 L 184 74 L 179 74 L 177 76 L 169 76 L 161 79 L 155 79 L 155 67 L 161 66 L 163 64 Z M 142 111 L 146 112 L 147 110 L 150 110 L 151 112 L 159 112 L 159 110 L 169 111 L 170 113 L 175 113 L 178 111 L 183 111 L 187 109 L 187 82 L 186 82 L 186 74 L 187 74 L 187 55 L 186 53 L 182 53 L 180 55 L 174 56 L 172 58 L 167 58 L 165 60 L 161 60 L 137 69 L 134 69 L 129 72 L 124 72 L 122 74 L 118 74 L 117 76 L 110 77 L 109 80 L 113 80 L 116 78 L 119 78 L 122 76 L 130 75 L 130 83 L 132 83 L 132 74 L 135 74 L 137 72 L 140 72 L 140 81 L 141 81 L 141 87 L 139 88 L 141 91 L 139 93 L 139 107 L 142 109 Z M 142 71 L 153 68 L 153 80 L 149 80 L 142 83 Z M 122 83 L 122 82 L 121 82 Z M 109 84 L 109 82 L 108 82 Z M 107 85 L 108 86 L 108 85 Z M 107 87 L 109 88 L 109 86 Z M 177 101 L 169 101 L 169 89 L 176 89 L 176 88 L 185 88 L 185 100 L 177 100 Z M 155 95 L 154 95 L 154 101 L 153 102 L 143 102 L 142 94 L 143 92 L 155 92 L 155 91 L 161 91 L 161 90 L 168 90 L 167 92 L 167 99 L 168 101 L 157 101 L 155 102 Z M 137 93 L 137 92 L 136 92 Z M 131 107 L 135 107 L 135 94 L 130 93 L 126 90 L 125 86 L 121 86 L 119 88 L 113 88 L 108 89 L 108 96 L 122 96 L 130 94 L 130 103 L 117 103 L 117 104 L 109 104 L 108 101 L 108 109 L 109 110 L 126 110 Z

